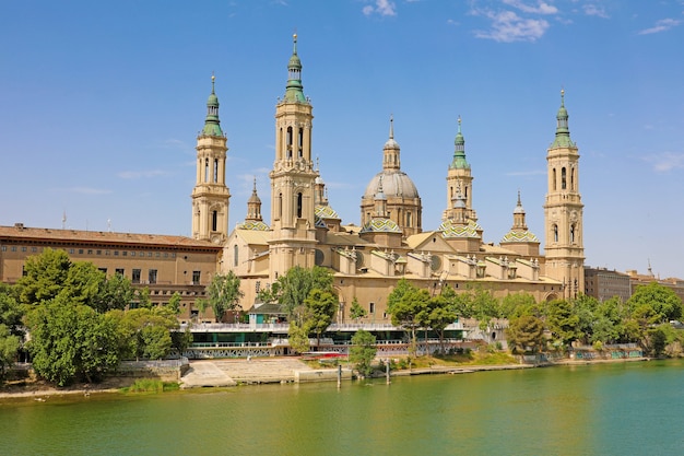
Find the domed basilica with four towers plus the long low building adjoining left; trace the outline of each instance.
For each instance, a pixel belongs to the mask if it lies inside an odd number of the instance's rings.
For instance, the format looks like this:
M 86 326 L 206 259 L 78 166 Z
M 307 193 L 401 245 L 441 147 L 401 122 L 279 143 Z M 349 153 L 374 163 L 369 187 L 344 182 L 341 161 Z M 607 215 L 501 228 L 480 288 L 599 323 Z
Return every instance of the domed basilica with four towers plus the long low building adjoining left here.
M 460 118 L 453 154 L 444 159 L 445 210 L 441 220 L 426 223 L 438 226 L 436 230 L 423 230 L 421 196 L 401 168 L 391 116 L 389 138 L 381 151 L 378 148 L 380 169 L 368 176 L 359 201 L 359 221 L 344 223 L 311 159 L 314 106 L 305 95 L 302 70 L 295 35 L 285 93 L 275 105 L 268 220 L 261 213 L 256 182 L 247 208 L 232 208 L 233 219 L 228 218 L 228 147 L 212 77 L 204 126 L 197 137 L 191 238 L 32 229 L 21 223 L 0 226 L 0 280 L 15 282 L 27 256 L 47 247 L 62 248 L 72 259 L 93 261 L 107 274 L 123 274 L 137 287 L 149 287 L 153 302 L 164 304 L 178 292 L 184 305 L 181 320 L 197 319 L 196 300 L 204 296 L 216 272 L 233 271 L 241 279 L 241 306 L 248 311 L 258 304 L 260 290 L 295 266 L 317 265 L 332 271 L 340 300 L 338 323 L 349 321 L 354 300 L 368 312 L 366 323 L 390 323 L 387 297 L 402 278 L 433 295 L 446 284 L 457 291 L 482 287 L 496 297 L 526 292 L 536 301 L 574 297 L 585 290 L 579 154 L 570 139 L 563 92 L 555 138 L 546 151 L 542 255 L 540 238 L 528 230 L 519 192 L 510 231 L 498 245 L 483 242 L 484 230 L 473 207 L 475 179 Z M 236 217 L 243 210 L 244 220 Z M 228 221 L 236 219 L 240 221 L 231 232 Z

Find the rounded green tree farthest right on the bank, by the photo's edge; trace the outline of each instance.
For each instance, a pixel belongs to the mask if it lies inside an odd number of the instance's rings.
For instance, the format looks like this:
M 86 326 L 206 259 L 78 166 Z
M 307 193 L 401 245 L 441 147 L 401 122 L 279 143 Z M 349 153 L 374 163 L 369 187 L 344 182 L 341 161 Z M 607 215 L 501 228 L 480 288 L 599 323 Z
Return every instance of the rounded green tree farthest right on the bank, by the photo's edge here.
M 672 289 L 658 282 L 637 287 L 632 297 L 627 300 L 627 304 L 633 309 L 633 314 L 638 313 L 641 318 L 647 314 L 650 315 L 648 318 L 653 324 L 667 323 L 682 316 L 682 300 Z

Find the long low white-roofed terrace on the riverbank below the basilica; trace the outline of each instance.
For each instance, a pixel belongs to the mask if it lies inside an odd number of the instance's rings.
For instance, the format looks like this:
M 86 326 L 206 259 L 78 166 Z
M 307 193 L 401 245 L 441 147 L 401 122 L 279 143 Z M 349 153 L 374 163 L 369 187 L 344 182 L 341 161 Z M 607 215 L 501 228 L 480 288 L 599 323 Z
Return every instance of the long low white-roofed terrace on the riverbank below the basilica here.
M 480 341 L 504 342 L 506 320 L 493 321 L 491 330 L 482 332 L 477 321 L 459 320 L 445 328 L 446 350 L 472 348 Z M 273 324 L 192 324 L 181 325 L 179 331 L 192 332 L 192 344 L 184 353 L 189 359 L 256 358 L 292 354 L 287 341 L 290 325 Z M 376 339 L 378 356 L 406 354 L 409 340 L 404 329 L 388 324 L 332 324 L 321 335 L 320 342 L 309 339 L 311 350 L 346 354 L 352 336 L 358 330 L 372 332 Z M 434 331 L 416 331 L 418 353 L 439 350 L 439 337 Z

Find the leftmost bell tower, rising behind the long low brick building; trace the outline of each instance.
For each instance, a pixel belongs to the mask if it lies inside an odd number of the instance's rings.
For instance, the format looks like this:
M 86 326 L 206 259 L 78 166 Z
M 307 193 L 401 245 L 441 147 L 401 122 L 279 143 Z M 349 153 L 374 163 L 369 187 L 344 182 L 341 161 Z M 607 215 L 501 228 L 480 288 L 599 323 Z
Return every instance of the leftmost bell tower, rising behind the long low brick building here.
M 192 237 L 222 244 L 228 237 L 231 191 L 225 185 L 227 138 L 219 120 L 219 97 L 211 77 L 204 128 L 197 137 L 197 178 L 192 189 Z

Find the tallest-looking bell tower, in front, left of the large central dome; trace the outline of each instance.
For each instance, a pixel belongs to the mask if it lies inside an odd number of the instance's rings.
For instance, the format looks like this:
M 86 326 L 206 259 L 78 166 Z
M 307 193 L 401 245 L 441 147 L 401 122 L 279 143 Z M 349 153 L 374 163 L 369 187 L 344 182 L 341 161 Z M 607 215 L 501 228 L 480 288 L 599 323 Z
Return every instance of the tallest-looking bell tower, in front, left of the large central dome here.
M 314 267 L 317 243 L 314 194 L 318 172 L 311 161 L 314 115 L 302 85 L 297 35 L 293 38 L 285 96 L 275 106 L 275 161 L 270 173 L 271 280 L 294 266 Z

